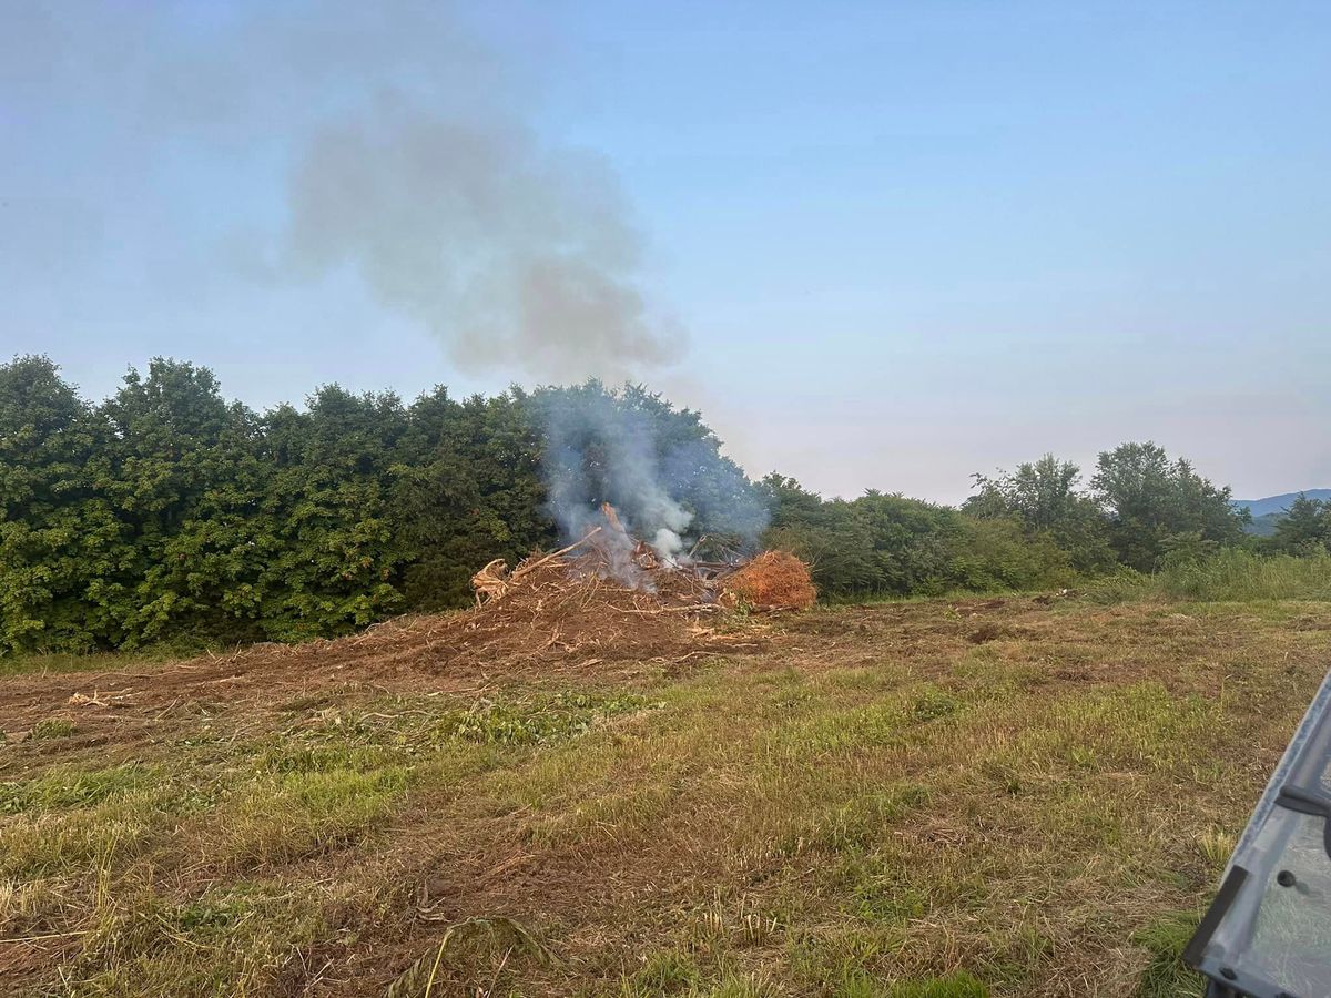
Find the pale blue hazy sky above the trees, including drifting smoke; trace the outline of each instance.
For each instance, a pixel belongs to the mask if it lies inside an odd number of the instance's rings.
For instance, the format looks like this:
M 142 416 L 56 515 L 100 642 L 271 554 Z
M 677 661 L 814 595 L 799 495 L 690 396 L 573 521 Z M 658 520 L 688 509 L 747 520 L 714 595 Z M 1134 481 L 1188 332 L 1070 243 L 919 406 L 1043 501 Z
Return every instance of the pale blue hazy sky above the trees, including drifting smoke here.
M 1327 3 L 0 0 L 0 353 L 92 398 L 600 374 L 828 494 L 1331 486 Z

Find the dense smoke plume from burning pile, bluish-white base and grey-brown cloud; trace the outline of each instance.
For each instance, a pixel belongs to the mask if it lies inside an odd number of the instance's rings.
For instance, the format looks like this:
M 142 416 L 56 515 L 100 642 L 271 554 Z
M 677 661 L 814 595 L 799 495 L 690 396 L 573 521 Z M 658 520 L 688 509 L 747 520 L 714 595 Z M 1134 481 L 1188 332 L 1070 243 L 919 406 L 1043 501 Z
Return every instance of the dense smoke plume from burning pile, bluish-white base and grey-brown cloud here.
M 466 371 L 623 382 L 681 359 L 683 331 L 648 307 L 643 236 L 607 162 L 543 141 L 520 100 L 463 104 L 441 89 L 381 86 L 366 106 L 313 122 L 291 161 L 282 270 L 353 273 Z M 672 560 L 695 522 L 685 480 L 671 479 L 685 454 L 689 475 L 739 472 L 715 446 L 663 446 L 655 415 L 599 382 L 546 397 L 548 510 L 570 540 L 603 524 L 604 543 L 631 548 L 630 534 L 604 520 L 608 502 Z

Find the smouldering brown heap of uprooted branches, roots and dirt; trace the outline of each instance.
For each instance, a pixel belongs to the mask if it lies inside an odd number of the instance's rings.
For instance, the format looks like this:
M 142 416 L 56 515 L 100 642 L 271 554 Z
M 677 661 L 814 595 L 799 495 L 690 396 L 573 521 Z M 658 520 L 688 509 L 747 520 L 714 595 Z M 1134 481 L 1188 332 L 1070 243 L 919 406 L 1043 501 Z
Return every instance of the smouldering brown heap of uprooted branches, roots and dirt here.
M 709 620 L 723 608 L 813 601 L 808 567 L 793 555 L 676 562 L 634 540 L 614 510 L 604 512 L 604 523 L 576 544 L 531 555 L 512 571 L 503 560 L 487 564 L 471 580 L 473 609 L 398 617 L 337 640 L 257 645 L 228 659 L 228 668 L 354 669 L 362 680 L 421 671 L 459 679 L 496 669 L 669 668 L 763 647 L 765 628 L 755 621 Z

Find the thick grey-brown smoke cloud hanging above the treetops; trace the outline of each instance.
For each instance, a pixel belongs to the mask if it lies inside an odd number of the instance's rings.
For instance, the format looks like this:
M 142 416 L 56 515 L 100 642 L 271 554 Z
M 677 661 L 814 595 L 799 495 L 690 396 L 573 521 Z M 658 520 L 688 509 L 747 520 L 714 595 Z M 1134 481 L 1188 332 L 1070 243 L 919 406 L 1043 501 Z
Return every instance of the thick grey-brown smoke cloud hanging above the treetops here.
M 642 238 L 611 170 L 495 112 L 441 118 L 395 98 L 322 126 L 290 185 L 289 262 L 349 265 L 467 370 L 623 378 L 683 349 L 647 314 Z

